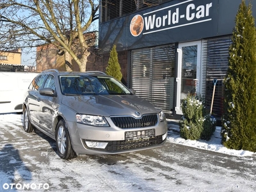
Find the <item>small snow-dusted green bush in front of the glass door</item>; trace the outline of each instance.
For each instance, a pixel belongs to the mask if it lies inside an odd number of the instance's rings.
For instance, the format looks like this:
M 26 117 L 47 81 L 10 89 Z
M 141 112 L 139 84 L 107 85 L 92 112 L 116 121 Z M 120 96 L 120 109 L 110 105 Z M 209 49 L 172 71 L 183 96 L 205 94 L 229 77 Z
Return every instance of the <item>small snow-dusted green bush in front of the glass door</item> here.
M 216 119 L 205 110 L 204 99 L 189 95 L 182 100 L 180 136 L 186 140 L 210 140 L 216 128 Z

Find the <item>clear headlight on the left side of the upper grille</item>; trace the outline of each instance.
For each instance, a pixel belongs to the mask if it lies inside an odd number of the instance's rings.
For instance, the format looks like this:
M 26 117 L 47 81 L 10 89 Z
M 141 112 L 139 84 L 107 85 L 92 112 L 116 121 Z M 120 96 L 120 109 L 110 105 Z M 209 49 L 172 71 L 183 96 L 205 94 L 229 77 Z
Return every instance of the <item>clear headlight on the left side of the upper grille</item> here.
M 76 115 L 76 122 L 79 124 L 92 125 L 96 127 L 108 127 L 109 124 L 104 116 L 96 115 Z

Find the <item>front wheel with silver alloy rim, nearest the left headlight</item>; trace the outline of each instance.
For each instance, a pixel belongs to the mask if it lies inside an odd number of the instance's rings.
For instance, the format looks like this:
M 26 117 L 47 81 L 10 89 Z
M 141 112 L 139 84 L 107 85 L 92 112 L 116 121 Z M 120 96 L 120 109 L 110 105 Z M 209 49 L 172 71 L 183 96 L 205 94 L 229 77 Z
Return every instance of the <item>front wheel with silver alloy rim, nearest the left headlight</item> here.
M 56 147 L 58 156 L 60 156 L 61 159 L 67 160 L 76 157 L 76 153 L 74 152 L 70 142 L 67 125 L 65 124 L 64 120 L 60 120 L 57 125 Z

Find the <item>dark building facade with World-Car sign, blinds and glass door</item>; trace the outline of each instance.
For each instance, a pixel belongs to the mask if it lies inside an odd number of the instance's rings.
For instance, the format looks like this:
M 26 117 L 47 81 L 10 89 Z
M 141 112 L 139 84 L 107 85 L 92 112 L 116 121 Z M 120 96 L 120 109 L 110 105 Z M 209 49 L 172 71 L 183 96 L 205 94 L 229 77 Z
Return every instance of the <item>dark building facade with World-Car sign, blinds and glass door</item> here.
M 223 79 L 241 0 L 100 1 L 100 54 L 127 58 L 127 86 L 170 115 L 182 115 L 189 93 L 205 97 L 212 114 L 223 113 Z M 253 1 L 252 1 L 253 3 Z M 253 16 L 256 4 L 253 6 Z

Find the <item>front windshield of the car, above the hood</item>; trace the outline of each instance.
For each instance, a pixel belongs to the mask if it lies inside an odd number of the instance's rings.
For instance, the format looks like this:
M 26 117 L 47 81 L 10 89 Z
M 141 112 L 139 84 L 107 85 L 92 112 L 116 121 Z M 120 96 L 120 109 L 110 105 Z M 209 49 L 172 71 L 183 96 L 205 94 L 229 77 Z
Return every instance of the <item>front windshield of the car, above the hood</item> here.
M 127 95 L 132 94 L 124 84 L 105 76 L 60 76 L 64 95 Z

